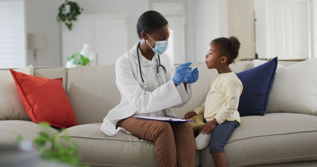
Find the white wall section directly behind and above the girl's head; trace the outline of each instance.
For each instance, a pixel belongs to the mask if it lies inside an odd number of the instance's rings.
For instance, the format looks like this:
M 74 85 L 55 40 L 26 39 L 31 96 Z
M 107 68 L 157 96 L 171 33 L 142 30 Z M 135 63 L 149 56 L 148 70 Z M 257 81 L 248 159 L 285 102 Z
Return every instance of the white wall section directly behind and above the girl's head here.
M 193 22 L 189 24 L 194 26 L 189 33 L 193 34 L 191 37 L 194 42 L 189 47 L 194 47 L 194 55 L 192 58 L 188 55 L 187 58 L 193 62 L 204 62 L 211 40 L 228 37 L 227 0 L 193 1 L 193 6 L 192 13 L 189 13 L 193 15 Z

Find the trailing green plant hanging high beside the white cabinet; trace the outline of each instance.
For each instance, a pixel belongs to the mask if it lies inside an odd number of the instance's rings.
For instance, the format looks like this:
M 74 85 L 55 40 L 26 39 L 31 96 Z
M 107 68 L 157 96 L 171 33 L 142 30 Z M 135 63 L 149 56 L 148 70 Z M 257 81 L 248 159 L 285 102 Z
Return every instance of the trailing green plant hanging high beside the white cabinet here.
M 73 25 L 72 21 L 76 21 L 77 16 L 80 15 L 83 10 L 83 8 L 78 6 L 78 3 L 66 0 L 65 3 L 61 4 L 58 8 L 56 20 L 57 22 L 65 22 L 65 25 L 70 31 Z

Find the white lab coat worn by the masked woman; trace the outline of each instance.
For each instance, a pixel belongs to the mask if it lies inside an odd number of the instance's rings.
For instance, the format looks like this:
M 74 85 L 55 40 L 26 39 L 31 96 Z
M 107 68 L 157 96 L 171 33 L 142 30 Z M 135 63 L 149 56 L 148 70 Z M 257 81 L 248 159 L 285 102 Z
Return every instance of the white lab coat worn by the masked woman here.
M 139 71 L 137 46 L 138 43 L 116 62 L 116 84 L 120 91 L 121 101 L 120 104 L 109 111 L 101 125 L 101 131 L 109 136 L 113 136 L 119 131 L 129 133 L 121 127 L 116 129 L 116 124 L 118 121 L 132 116 L 136 111 L 138 113 L 152 113 L 165 110 L 167 116 L 176 117 L 171 112 L 170 107 L 183 107 L 191 98 L 190 84 L 187 84 L 186 90 L 183 83 L 175 87 L 172 81 L 175 72 L 174 63 L 167 54 L 160 55 L 160 60 L 161 64 L 165 66 L 168 82 L 152 92 L 145 91 Z M 140 52 L 139 56 L 141 56 Z M 142 62 L 141 72 L 144 81 L 147 83 Z

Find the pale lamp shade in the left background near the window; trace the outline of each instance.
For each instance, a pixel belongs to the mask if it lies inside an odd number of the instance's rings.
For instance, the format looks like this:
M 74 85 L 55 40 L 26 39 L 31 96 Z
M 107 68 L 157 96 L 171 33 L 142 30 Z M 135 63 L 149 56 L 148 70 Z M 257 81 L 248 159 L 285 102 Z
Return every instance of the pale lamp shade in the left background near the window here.
M 29 49 L 44 49 L 47 47 L 47 38 L 44 33 L 30 33 L 28 34 L 28 48 Z

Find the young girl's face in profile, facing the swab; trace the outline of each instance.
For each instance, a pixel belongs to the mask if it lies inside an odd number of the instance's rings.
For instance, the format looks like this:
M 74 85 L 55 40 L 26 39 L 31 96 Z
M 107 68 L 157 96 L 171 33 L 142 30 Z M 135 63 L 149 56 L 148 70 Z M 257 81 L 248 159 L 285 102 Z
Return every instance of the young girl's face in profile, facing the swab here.
M 206 58 L 206 65 L 208 69 L 212 68 L 218 68 L 221 65 L 221 52 L 218 49 L 218 46 L 215 45 L 213 42 L 210 42 L 209 47 L 208 47 L 208 53 L 205 56 Z

